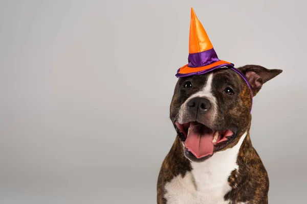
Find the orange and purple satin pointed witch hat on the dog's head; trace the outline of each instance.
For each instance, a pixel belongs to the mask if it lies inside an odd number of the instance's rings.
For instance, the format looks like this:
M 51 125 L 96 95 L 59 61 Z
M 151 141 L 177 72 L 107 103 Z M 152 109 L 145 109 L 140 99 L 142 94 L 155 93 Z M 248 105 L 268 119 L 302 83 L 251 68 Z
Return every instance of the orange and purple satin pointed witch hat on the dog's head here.
M 233 67 L 230 62 L 218 59 L 212 43 L 191 8 L 188 64 L 178 69 L 176 77 L 187 77 L 207 73 L 216 68 Z

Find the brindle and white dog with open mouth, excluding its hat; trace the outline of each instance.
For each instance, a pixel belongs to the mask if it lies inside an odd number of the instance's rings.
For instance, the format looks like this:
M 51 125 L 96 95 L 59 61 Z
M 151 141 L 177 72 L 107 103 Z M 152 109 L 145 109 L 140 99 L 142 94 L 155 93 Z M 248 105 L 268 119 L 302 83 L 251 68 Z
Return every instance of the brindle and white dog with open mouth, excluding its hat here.
M 252 97 L 282 72 L 258 65 L 179 78 L 170 104 L 177 137 L 157 203 L 264 204 L 269 177 L 250 138 Z M 251 94 L 252 92 L 252 94 Z

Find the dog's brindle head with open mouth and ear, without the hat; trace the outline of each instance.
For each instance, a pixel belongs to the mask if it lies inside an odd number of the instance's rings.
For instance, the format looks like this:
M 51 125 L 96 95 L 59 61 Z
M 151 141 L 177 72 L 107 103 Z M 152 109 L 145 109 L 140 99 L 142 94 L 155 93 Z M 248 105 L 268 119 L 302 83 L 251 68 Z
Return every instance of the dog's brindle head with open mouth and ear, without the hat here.
M 238 68 L 253 96 L 282 70 L 257 65 Z M 170 105 L 170 118 L 194 162 L 233 147 L 250 127 L 252 94 L 244 79 L 230 68 L 180 78 Z

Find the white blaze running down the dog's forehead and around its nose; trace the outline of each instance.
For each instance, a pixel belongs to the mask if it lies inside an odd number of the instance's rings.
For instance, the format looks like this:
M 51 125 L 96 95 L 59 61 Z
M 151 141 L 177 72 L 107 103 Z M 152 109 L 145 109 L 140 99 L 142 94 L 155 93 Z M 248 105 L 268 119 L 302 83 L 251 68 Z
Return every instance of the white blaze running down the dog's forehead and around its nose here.
M 187 103 L 190 101 L 191 98 L 194 97 L 205 97 L 208 100 L 210 100 L 210 103 L 212 105 L 212 109 L 213 109 L 213 115 L 212 115 L 212 121 L 214 121 L 215 119 L 215 115 L 216 115 L 216 110 L 217 110 L 217 104 L 216 104 L 216 98 L 213 96 L 212 94 L 212 81 L 213 81 L 213 73 L 209 74 L 208 80 L 205 84 L 205 86 L 203 87 L 203 89 L 199 92 L 194 93 L 193 95 L 191 95 L 188 99 L 186 99 L 186 101 L 181 105 L 180 110 L 179 110 L 179 118 L 178 118 L 178 122 L 179 123 L 184 123 L 183 119 L 184 119 L 184 115 L 185 115 L 185 111 L 186 111 L 186 106 Z

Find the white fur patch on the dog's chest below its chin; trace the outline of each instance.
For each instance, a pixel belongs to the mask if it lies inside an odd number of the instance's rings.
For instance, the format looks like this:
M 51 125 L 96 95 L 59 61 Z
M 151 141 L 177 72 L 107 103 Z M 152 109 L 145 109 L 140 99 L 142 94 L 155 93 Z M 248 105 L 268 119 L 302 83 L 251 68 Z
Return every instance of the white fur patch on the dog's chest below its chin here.
M 231 189 L 228 177 L 236 164 L 239 148 L 245 133 L 232 148 L 216 152 L 211 158 L 202 162 L 191 162 L 192 171 L 185 176 L 178 175 L 165 185 L 168 204 L 228 204 L 224 195 Z

